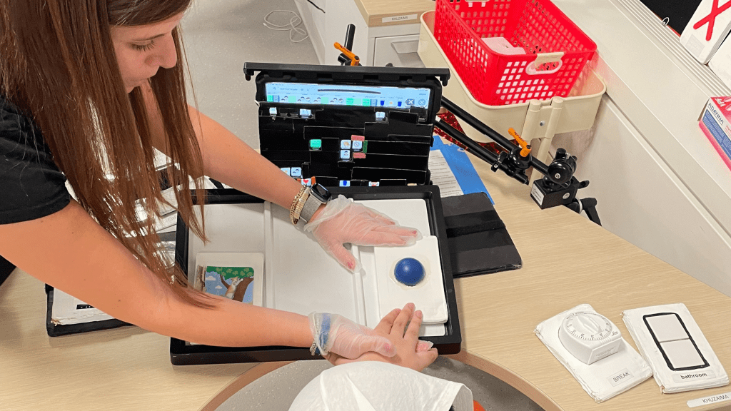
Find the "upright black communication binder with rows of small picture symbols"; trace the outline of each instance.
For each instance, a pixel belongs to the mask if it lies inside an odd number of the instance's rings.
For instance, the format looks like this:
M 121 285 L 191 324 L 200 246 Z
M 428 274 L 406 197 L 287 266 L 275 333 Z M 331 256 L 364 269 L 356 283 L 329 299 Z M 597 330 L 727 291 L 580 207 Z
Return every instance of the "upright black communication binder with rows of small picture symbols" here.
M 303 184 L 428 184 L 448 69 L 247 62 L 262 156 Z

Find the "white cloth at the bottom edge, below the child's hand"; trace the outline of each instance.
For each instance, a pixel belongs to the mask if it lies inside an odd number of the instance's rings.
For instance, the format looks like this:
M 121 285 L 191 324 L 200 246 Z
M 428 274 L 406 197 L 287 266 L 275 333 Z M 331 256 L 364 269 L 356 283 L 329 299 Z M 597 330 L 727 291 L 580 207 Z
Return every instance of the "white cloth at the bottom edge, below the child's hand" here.
M 300 391 L 289 411 L 472 411 L 472 391 L 458 382 L 379 361 L 327 369 Z

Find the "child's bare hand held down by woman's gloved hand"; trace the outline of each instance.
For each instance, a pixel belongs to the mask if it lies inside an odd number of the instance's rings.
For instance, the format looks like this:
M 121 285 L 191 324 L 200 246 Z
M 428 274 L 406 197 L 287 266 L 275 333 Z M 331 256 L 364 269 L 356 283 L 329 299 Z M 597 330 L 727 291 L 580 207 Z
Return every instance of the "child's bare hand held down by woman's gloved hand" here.
M 388 313 L 376 325 L 374 331 L 385 336 L 393 343 L 396 355 L 385 357 L 377 352 L 366 352 L 355 360 L 349 360 L 339 355 L 328 355 L 327 360 L 335 365 L 352 363 L 355 361 L 382 361 L 405 366 L 416 371 L 425 369 L 436 360 L 439 352 L 431 348 L 430 342 L 419 341 L 419 328 L 423 319 L 420 311 L 414 312 L 414 304 L 408 303 L 404 309 L 395 309 Z M 406 325 L 408 324 L 408 328 Z M 404 332 L 404 330 L 406 330 Z

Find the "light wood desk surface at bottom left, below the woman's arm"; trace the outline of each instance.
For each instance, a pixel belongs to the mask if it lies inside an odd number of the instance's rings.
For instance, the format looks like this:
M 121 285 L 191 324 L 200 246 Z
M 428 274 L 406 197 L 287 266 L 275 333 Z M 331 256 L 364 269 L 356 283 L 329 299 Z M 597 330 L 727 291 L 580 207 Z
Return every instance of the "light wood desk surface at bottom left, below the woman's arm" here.
M 43 283 L 0 286 L 0 410 L 194 411 L 254 364 L 173 366 L 170 338 L 137 327 L 48 337 Z

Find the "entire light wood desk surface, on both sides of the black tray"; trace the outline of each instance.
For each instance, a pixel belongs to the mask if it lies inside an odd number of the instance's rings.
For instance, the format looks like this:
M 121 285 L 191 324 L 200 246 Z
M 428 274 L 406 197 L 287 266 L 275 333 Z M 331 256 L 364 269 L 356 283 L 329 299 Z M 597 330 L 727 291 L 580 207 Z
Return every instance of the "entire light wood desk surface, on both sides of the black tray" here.
M 594 403 L 534 335 L 538 323 L 589 303 L 634 346 L 622 310 L 682 302 L 728 372 L 731 298 L 567 208 L 539 210 L 527 186 L 488 173 L 482 163 L 477 167 L 523 268 L 455 282 L 464 340 L 456 358 L 500 377 L 547 411 L 685 410 L 689 399 L 731 391 L 727 385 L 663 395 L 650 379 Z M 51 339 L 45 333 L 42 283 L 16 271 L 0 287 L 0 409 L 200 410 L 251 368 L 173 366 L 169 344 L 170 339 L 136 327 Z

